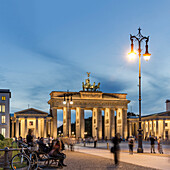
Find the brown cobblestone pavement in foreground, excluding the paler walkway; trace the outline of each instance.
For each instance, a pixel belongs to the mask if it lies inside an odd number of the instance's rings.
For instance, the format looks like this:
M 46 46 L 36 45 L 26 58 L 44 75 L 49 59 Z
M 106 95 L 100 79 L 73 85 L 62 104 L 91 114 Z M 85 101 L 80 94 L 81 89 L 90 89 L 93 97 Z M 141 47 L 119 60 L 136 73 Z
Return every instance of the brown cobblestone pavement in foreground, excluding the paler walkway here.
M 63 169 L 68 170 L 111 170 L 111 169 L 122 169 L 122 170 L 154 170 L 152 168 L 146 168 L 138 165 L 133 165 L 129 163 L 120 162 L 119 167 L 114 166 L 114 161 L 107 158 L 102 158 L 99 156 L 93 156 L 89 154 L 66 151 L 67 167 Z M 57 167 L 46 167 L 43 169 L 58 169 Z

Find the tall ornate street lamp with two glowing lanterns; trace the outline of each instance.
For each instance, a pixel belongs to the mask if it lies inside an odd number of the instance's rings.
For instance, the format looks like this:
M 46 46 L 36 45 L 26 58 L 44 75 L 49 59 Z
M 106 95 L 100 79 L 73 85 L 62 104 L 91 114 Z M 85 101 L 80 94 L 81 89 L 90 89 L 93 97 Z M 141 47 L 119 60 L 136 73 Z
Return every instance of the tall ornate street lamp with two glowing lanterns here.
M 143 54 L 143 57 L 146 61 L 150 59 L 151 54 L 148 52 L 148 41 L 149 36 L 144 37 L 141 34 L 141 29 L 138 29 L 139 32 L 136 36 L 132 36 L 130 34 L 130 40 L 131 40 L 131 52 L 129 53 L 130 59 L 134 59 L 136 57 L 136 53 L 133 50 L 133 41 L 136 40 L 138 42 L 138 55 L 139 55 L 139 129 L 138 129 L 138 153 L 143 153 L 143 147 L 142 147 L 142 126 L 141 126 L 141 42 L 144 40 L 146 42 L 145 48 L 145 54 Z

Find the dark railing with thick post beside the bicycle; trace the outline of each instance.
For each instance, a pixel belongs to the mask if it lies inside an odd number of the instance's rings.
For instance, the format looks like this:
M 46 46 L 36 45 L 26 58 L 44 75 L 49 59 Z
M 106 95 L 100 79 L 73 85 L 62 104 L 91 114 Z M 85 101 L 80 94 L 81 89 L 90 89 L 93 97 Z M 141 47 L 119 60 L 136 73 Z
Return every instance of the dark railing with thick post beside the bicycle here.
M 1 168 L 3 168 L 4 170 L 7 170 L 7 169 L 11 169 L 10 168 L 10 161 L 12 159 L 12 151 L 20 151 L 21 148 L 18 148 L 18 149 L 13 149 L 13 148 L 8 148 L 8 147 L 5 147 L 4 149 L 0 149 L 0 152 L 4 151 L 4 155 L 1 156 L 1 161 L 3 162 L 0 162 L 0 165 L 3 165 L 1 166 Z M 9 154 L 11 153 L 11 155 Z

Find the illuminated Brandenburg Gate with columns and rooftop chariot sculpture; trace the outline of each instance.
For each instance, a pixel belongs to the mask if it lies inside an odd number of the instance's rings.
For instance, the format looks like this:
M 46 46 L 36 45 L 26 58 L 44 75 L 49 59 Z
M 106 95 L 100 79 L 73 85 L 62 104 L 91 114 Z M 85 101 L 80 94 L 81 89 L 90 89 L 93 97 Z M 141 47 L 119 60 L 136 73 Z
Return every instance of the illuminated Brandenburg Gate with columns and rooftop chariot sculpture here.
M 122 138 L 127 137 L 127 108 L 129 100 L 125 93 L 103 93 L 99 91 L 100 83 L 90 84 L 90 73 L 86 82 L 82 83 L 82 91 L 50 93 L 50 110 L 52 114 L 53 137 L 57 137 L 57 110 L 63 110 L 63 136 L 71 136 L 71 110 L 76 111 L 76 138 L 84 138 L 85 121 L 84 111 L 92 111 L 92 136 L 110 139 L 115 133 Z M 71 99 L 71 101 L 70 101 Z M 102 135 L 102 111 L 104 111 L 104 134 Z M 116 129 L 116 131 L 115 131 Z

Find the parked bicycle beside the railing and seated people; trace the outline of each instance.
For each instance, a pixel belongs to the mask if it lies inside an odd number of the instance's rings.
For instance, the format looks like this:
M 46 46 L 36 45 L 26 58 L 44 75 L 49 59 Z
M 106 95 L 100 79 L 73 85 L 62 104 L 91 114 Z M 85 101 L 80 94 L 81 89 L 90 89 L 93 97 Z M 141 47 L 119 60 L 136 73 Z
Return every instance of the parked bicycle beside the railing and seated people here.
M 32 151 L 31 147 L 28 147 L 24 143 L 20 143 L 21 152 L 14 155 L 11 160 L 11 168 L 16 169 L 37 169 L 38 168 L 38 158 L 36 152 Z M 24 149 L 25 148 L 25 149 Z

